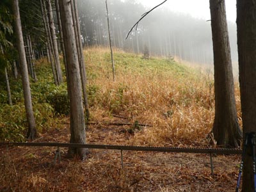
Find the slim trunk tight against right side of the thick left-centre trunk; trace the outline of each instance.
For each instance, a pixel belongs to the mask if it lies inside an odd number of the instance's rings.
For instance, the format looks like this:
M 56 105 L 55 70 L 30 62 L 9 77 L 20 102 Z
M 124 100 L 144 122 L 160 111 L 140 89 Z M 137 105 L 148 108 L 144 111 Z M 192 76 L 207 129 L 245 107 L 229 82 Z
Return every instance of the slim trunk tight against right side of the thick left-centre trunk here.
M 86 114 L 86 121 L 90 118 L 90 111 L 89 111 L 89 104 L 88 104 L 88 97 L 86 93 L 86 70 L 84 66 L 84 52 L 83 52 L 83 44 L 81 40 L 81 29 L 80 29 L 80 23 L 79 23 L 79 17 L 77 12 L 77 3 L 76 0 L 74 0 L 74 13 L 76 16 L 76 25 L 77 25 L 77 36 L 78 38 L 78 48 L 77 52 L 80 52 L 80 60 L 79 60 L 79 67 L 80 67 L 80 74 L 81 74 L 81 81 L 82 81 L 82 88 L 83 88 L 83 97 L 84 97 L 84 108 L 85 108 L 85 114 Z

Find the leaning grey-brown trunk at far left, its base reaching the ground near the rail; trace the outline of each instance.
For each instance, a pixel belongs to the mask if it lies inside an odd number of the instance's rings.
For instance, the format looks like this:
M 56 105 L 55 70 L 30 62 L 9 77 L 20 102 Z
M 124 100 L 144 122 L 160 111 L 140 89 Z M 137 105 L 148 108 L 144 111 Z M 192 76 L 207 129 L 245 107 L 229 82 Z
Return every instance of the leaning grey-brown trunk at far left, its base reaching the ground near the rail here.
M 36 123 L 35 123 L 35 117 L 34 117 L 33 107 L 32 107 L 26 53 L 24 49 L 22 27 L 20 23 L 19 0 L 13 0 L 13 12 L 15 15 L 15 30 L 17 33 L 17 46 L 18 46 L 19 57 L 20 57 L 20 70 L 22 75 L 24 103 L 26 108 L 26 116 L 28 120 L 27 136 L 28 136 L 28 139 L 33 140 L 36 136 Z

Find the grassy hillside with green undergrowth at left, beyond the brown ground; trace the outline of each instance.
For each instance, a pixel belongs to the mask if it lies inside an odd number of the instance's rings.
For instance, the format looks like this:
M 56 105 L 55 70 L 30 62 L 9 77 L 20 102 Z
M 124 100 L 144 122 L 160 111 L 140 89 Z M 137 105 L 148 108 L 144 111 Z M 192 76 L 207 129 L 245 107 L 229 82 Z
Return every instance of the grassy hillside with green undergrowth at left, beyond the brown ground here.
M 86 49 L 84 55 L 93 122 L 113 122 L 114 116 L 122 116 L 129 122 L 152 124 L 134 133 L 129 140 L 132 145 L 208 144 L 205 136 L 214 118 L 211 74 L 170 58 L 147 60 L 115 51 L 113 82 L 108 49 Z M 40 132 L 47 132 L 61 127 L 61 114 L 68 114 L 66 84 L 53 84 L 51 67 L 45 60 L 37 61 L 36 72 L 38 82 L 31 83 L 36 122 Z M 12 80 L 11 88 L 14 106 L 5 104 L 6 93 L 1 89 L 0 140 L 24 140 L 26 115 L 20 82 Z M 237 88 L 236 94 L 239 103 Z

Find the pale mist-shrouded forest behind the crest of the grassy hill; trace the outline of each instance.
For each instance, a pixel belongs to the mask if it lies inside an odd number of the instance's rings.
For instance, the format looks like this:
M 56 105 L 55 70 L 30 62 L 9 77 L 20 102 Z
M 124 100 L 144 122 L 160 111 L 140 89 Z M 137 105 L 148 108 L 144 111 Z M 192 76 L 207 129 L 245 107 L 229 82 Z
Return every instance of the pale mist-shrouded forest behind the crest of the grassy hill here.
M 77 0 L 84 44 L 109 46 L 104 0 Z M 164 4 L 141 20 L 125 40 L 132 26 L 149 10 L 137 1 L 108 0 L 113 46 L 151 56 L 176 56 L 191 63 L 212 64 L 211 20 L 172 12 Z M 210 10 L 209 10 L 210 12 Z M 231 55 L 237 63 L 236 24 L 228 22 Z

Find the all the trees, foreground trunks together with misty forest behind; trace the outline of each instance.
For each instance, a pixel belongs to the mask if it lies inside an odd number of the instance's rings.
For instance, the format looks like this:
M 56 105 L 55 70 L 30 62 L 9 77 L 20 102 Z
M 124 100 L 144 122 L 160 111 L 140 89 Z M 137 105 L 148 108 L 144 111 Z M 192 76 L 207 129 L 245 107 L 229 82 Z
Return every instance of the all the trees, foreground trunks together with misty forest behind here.
M 28 9 L 29 7 L 29 9 Z M 35 60 L 47 57 L 56 86 L 67 79 L 70 106 L 70 143 L 86 143 L 86 122 L 90 120 L 86 93 L 83 47 L 113 46 L 141 54 L 173 57 L 195 63 L 214 61 L 215 118 L 212 132 L 222 147 L 239 147 L 242 132 L 237 122 L 232 61 L 237 60 L 236 25 L 227 27 L 225 1 L 210 0 L 211 24 L 188 15 L 160 8 L 148 15 L 125 40 L 127 32 L 145 8 L 135 1 L 108 1 L 109 29 L 105 1 L 12 0 L 0 2 L 0 62 L 8 104 L 12 105 L 8 76 L 22 79 L 28 140 L 36 138 L 29 77 L 38 81 Z M 132 10 L 132 14 L 131 14 Z M 243 134 L 255 131 L 256 90 L 256 4 L 237 0 L 237 45 L 239 83 L 243 113 Z M 189 31 L 189 33 L 188 33 Z M 229 31 L 230 33 L 228 33 Z M 213 47 L 213 54 L 212 54 Z M 231 47 L 231 48 L 230 48 Z M 65 73 L 61 70 L 63 55 Z M 84 113 L 85 111 L 85 113 Z M 85 114 L 85 115 L 84 115 Z M 243 137 L 244 138 L 244 137 Z M 69 148 L 68 155 L 86 158 L 85 148 Z M 253 162 L 244 161 L 244 191 L 253 191 Z M 248 182 L 248 183 L 247 183 Z

